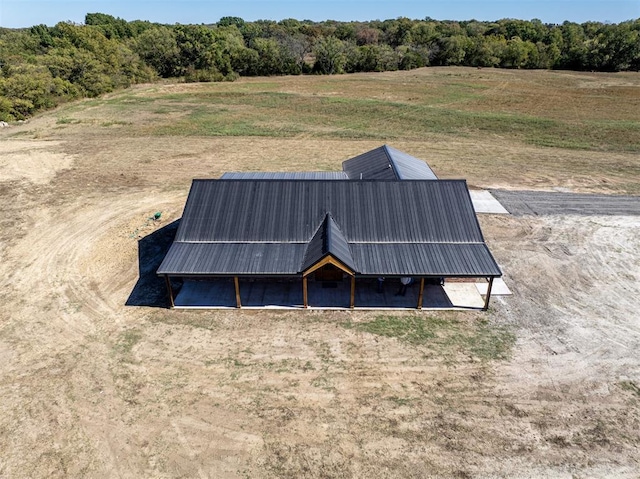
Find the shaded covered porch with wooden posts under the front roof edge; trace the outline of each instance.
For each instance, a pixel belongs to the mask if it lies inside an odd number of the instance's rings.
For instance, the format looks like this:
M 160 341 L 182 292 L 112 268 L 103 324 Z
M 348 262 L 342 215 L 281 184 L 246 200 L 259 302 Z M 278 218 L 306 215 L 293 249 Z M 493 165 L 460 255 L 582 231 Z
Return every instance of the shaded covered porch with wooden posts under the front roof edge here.
M 414 278 L 404 295 L 400 278 L 344 275 L 335 281 L 309 277 L 288 278 L 185 278 L 171 282 L 175 308 L 185 309 L 485 309 L 490 278 L 448 278 L 443 285 Z M 305 284 L 306 283 L 306 287 Z M 306 289 L 306 302 L 305 302 Z M 481 294 L 481 291 L 484 294 Z

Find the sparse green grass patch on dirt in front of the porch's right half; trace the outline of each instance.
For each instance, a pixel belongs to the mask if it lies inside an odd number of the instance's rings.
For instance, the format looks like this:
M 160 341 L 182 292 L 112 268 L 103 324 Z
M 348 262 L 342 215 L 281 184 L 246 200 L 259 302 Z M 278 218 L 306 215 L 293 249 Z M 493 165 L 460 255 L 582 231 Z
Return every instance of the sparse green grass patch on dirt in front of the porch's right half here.
M 480 360 L 506 359 L 515 343 L 508 329 L 485 321 L 460 322 L 435 316 L 377 316 L 373 321 L 342 323 L 348 329 L 395 338 L 444 356 L 466 354 Z

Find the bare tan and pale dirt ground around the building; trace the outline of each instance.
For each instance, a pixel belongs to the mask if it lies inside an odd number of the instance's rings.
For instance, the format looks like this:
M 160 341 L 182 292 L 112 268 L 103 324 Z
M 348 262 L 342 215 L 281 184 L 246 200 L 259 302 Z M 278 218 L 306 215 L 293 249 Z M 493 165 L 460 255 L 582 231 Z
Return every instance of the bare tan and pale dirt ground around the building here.
M 637 216 L 480 218 L 514 294 L 440 314 L 509 328 L 504 360 L 341 327 L 375 313 L 127 306 L 192 178 L 369 146 L 1 130 L 0 477 L 640 476 Z

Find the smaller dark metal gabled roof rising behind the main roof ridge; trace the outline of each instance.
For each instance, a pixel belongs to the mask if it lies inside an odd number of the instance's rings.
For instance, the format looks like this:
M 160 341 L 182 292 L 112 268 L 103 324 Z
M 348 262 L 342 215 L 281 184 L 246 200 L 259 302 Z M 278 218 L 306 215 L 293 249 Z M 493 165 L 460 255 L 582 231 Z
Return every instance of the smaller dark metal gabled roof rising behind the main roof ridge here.
M 383 145 L 342 162 L 352 180 L 437 180 L 429 165 L 418 158 Z

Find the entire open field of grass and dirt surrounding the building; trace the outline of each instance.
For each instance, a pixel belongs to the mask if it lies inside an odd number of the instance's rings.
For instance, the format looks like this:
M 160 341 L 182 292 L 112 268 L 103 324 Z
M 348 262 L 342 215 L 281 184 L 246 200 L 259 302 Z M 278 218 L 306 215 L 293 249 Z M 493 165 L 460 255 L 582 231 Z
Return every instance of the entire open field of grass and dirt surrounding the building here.
M 192 178 L 382 143 L 638 195 L 640 76 L 145 85 L 0 129 L 0 477 L 638 477 L 638 216 L 481 216 L 514 292 L 486 314 L 126 306 Z

